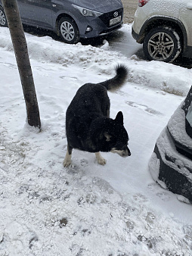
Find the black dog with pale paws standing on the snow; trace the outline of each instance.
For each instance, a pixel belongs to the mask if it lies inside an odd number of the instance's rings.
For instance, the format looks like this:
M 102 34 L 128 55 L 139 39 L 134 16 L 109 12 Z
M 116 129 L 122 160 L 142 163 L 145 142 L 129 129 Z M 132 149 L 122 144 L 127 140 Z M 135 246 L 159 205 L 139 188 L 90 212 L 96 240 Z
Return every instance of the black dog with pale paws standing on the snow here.
M 124 65 L 116 67 L 116 76 L 101 83 L 86 83 L 81 86 L 66 113 L 67 153 L 64 167 L 71 164 L 73 148 L 94 152 L 98 164 L 106 164 L 100 151 L 113 152 L 125 158 L 131 155 L 128 148 L 129 136 L 123 126 L 123 115 L 110 118 L 108 91 L 119 89 L 128 75 Z

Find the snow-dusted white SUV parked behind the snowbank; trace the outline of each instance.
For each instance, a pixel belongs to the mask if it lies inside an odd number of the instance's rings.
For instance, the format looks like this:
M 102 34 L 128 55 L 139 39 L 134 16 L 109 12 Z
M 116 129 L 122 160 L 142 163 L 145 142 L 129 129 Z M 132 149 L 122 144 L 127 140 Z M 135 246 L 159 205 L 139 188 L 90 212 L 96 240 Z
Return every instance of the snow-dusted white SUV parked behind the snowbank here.
M 138 0 L 132 36 L 150 61 L 192 58 L 191 14 L 191 0 Z

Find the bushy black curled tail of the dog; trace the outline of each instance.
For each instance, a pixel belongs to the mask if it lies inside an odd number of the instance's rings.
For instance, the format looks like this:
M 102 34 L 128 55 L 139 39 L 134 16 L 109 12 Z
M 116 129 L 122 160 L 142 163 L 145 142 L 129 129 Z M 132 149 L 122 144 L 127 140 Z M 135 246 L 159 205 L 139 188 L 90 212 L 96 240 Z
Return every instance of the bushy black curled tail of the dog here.
M 104 86 L 107 91 L 113 92 L 116 89 L 119 89 L 123 85 L 123 83 L 125 83 L 127 76 L 128 69 L 123 64 L 119 64 L 116 67 L 116 76 L 100 84 Z

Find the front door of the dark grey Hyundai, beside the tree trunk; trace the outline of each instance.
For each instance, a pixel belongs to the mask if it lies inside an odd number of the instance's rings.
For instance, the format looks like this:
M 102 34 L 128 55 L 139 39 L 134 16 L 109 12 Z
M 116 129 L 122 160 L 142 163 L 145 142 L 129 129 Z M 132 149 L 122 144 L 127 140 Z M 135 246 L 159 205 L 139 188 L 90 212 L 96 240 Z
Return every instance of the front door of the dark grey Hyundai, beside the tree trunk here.
M 51 0 L 17 0 L 17 2 L 23 23 L 47 29 L 53 28 Z

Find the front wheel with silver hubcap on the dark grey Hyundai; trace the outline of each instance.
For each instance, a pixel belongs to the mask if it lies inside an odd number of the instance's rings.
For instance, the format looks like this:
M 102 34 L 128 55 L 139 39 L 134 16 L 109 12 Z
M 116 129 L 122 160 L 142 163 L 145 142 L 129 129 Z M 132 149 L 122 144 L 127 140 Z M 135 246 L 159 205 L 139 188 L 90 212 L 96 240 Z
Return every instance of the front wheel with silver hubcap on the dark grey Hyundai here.
M 70 17 L 62 17 L 58 23 L 60 38 L 69 44 L 79 42 L 79 30 L 75 21 Z

